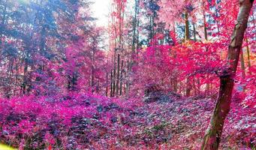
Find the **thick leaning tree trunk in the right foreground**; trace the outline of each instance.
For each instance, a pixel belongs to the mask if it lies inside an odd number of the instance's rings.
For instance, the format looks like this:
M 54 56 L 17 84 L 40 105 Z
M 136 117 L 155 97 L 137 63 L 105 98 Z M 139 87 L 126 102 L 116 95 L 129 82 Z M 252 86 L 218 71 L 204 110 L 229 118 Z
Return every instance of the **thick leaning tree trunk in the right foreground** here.
M 248 16 L 253 1 L 254 0 L 239 0 L 239 14 L 228 47 L 228 61 L 230 64 L 220 77 L 221 86 L 218 93 L 218 99 L 208 129 L 203 138 L 202 150 L 216 150 L 221 141 L 224 120 L 230 111 L 234 77 L 236 76 L 236 68 L 242 47 L 242 40 L 245 34 L 245 29 L 247 28 Z

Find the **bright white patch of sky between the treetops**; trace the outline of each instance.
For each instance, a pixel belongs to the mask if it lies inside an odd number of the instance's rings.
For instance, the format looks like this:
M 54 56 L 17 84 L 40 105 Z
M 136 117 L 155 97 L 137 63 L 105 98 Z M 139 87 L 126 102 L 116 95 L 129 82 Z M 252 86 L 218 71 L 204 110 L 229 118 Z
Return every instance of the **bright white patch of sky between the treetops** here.
M 94 0 L 92 5 L 93 17 L 98 18 L 97 26 L 107 26 L 111 0 Z

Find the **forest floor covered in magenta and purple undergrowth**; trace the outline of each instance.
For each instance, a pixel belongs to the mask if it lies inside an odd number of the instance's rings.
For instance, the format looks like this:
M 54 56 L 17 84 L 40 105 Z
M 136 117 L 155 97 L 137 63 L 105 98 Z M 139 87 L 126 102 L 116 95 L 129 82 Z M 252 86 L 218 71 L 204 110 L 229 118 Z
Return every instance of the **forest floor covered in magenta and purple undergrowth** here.
M 200 149 L 213 107 L 211 98 L 172 94 L 152 102 L 90 94 L 13 98 L 0 101 L 0 142 L 20 149 Z M 236 110 L 221 149 L 255 143 L 247 138 L 254 136 L 255 114 Z

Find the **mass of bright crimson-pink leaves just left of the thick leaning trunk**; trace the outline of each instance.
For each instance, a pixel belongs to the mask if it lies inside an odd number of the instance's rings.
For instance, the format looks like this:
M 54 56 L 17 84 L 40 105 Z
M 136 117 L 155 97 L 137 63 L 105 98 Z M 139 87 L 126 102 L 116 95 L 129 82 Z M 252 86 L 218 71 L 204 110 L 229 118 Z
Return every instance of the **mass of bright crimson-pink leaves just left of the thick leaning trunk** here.
M 175 39 L 175 34 L 170 32 Z M 185 83 L 190 79 L 200 80 L 200 85 L 218 86 L 218 73 L 224 66 L 220 50 L 223 46 L 219 43 L 202 43 L 189 41 L 176 46 L 152 45 L 143 49 L 137 58 L 140 63 L 134 74 L 135 88 L 142 89 L 147 83 L 160 84 L 167 91 L 173 90 L 173 79 Z M 195 79 L 197 78 L 197 79 Z M 195 82 L 195 81 L 194 81 Z M 198 84 L 198 82 L 197 82 Z M 141 87 L 142 86 L 142 87 Z M 183 85 L 185 86 L 185 85 Z M 217 90 L 217 89 L 215 89 Z M 182 89 L 179 91 L 182 92 Z

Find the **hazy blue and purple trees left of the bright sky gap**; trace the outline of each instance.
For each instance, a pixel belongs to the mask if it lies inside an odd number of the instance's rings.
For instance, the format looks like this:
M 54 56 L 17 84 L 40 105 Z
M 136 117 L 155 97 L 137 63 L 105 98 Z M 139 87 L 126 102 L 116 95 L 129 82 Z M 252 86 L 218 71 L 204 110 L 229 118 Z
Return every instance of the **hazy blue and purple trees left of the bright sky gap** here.
M 3 96 L 100 89 L 103 31 L 88 1 L 1 3 Z

